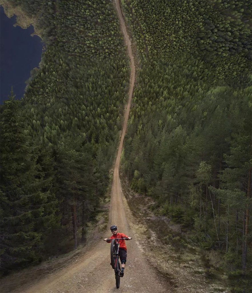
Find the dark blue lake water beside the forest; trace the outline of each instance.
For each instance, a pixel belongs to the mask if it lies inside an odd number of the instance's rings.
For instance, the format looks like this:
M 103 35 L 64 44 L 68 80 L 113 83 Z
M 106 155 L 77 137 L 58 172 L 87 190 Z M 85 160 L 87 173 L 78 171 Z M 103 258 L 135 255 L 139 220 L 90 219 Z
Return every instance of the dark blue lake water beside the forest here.
M 14 27 L 16 16 L 8 18 L 0 7 L 0 97 L 1 104 L 8 99 L 11 86 L 16 98 L 23 97 L 25 81 L 30 71 L 38 67 L 41 60 L 43 43 L 34 33 L 33 26 L 22 29 Z

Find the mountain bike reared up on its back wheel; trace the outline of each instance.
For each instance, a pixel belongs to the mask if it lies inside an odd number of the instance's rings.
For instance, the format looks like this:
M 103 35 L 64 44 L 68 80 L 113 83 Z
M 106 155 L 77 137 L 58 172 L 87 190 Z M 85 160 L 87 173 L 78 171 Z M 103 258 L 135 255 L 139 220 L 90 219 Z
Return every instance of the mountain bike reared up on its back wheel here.
M 110 246 L 110 259 L 111 259 L 111 266 L 115 270 L 115 285 L 118 289 L 120 287 L 120 274 L 121 274 L 121 266 L 119 262 L 119 240 L 129 240 L 128 238 L 115 238 L 112 240 L 106 240 L 106 242 L 111 241 Z

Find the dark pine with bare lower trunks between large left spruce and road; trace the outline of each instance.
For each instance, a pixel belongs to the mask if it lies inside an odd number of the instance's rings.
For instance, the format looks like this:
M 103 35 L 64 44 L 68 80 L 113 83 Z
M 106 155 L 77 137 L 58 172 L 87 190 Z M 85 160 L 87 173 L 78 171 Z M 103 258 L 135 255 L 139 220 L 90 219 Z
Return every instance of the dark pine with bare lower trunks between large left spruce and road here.
M 81 148 L 78 140 L 72 140 L 60 146 L 56 156 L 56 195 L 63 205 L 70 208 L 70 214 L 67 216 L 71 218 L 72 222 L 75 249 L 78 245 L 77 229 L 80 223 L 77 219 L 81 214 L 80 210 L 82 210 L 82 239 L 84 239 L 84 226 L 89 212 L 88 206 L 93 209 L 98 199 L 93 197 L 95 189 L 93 163 L 87 148 Z M 85 205 L 89 201 L 90 204 Z

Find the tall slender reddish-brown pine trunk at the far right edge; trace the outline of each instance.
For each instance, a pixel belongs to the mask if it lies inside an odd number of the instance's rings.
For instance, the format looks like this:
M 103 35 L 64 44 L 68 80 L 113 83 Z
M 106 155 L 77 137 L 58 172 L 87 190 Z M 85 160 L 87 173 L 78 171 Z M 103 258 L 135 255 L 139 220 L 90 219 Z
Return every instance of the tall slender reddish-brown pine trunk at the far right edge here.
M 248 222 L 249 222 L 249 199 L 251 197 L 251 168 L 248 173 L 248 190 L 247 190 L 247 204 L 246 204 L 246 212 L 244 216 L 244 228 L 245 228 L 245 233 L 243 236 L 243 245 L 242 245 L 242 269 L 243 269 L 243 274 L 245 275 L 246 273 L 246 264 L 247 264 L 247 246 L 248 246 L 248 241 L 247 241 L 247 236 L 248 236 Z

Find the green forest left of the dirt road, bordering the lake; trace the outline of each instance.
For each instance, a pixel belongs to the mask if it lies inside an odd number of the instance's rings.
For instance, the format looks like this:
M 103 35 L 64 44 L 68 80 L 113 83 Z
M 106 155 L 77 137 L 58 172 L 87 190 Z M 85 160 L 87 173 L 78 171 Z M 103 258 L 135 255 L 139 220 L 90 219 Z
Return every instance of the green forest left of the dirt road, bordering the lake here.
M 111 1 L 8 1 L 45 42 L 1 107 L 1 272 L 85 241 L 115 157 L 129 61 Z M 116 56 L 116 57 L 115 57 Z

